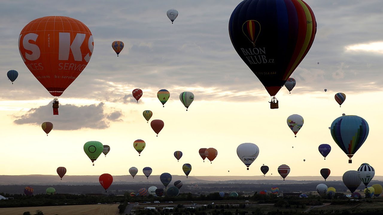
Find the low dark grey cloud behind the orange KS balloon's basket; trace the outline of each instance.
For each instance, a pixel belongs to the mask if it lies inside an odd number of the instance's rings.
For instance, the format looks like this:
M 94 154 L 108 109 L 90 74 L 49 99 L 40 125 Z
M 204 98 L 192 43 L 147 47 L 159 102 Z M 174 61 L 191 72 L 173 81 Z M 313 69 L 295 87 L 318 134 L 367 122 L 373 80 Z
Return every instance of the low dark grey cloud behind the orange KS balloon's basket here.
M 26 114 L 14 116 L 15 124 L 41 125 L 45 121 L 52 122 L 55 130 L 79 130 L 83 128 L 106 129 L 110 121 L 121 121 L 121 111 L 107 112 L 104 103 L 85 106 L 64 104 L 59 107 L 59 115 L 53 116 L 52 103 L 30 109 Z

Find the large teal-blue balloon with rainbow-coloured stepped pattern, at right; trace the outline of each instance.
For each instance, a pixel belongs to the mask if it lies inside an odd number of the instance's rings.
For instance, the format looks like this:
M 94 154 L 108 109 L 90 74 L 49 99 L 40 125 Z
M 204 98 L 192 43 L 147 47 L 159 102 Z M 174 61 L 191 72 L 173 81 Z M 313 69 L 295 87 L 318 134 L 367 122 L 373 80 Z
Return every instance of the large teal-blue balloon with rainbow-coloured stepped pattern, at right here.
M 332 122 L 330 130 L 335 143 L 349 156 L 349 163 L 352 163 L 352 156 L 367 139 L 367 121 L 358 116 L 341 116 Z

